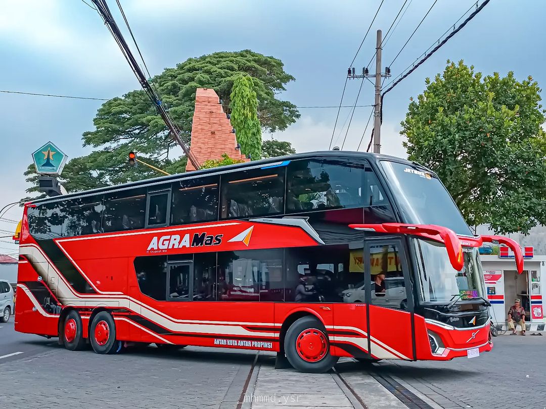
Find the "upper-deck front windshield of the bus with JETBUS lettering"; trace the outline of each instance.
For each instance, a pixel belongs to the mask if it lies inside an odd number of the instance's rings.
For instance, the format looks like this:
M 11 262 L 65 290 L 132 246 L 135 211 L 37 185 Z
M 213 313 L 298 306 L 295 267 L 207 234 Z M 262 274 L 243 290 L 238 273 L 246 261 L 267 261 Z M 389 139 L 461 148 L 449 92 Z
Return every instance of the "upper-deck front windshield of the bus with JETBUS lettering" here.
M 453 199 L 435 175 L 397 162 L 382 160 L 381 165 L 404 222 L 444 226 L 456 234 L 472 236 Z

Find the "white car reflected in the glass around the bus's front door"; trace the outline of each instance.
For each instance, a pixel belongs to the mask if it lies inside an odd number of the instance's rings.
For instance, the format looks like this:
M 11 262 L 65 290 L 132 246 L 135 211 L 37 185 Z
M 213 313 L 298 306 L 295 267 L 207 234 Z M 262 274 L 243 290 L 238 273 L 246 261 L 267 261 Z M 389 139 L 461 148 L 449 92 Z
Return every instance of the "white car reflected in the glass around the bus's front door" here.
M 365 302 L 365 282 L 360 281 L 354 288 L 343 290 L 341 295 L 345 303 Z M 406 299 L 406 287 L 403 277 L 389 277 L 385 279 L 385 292 L 376 293 L 372 282 L 372 304 L 403 308 L 402 302 Z

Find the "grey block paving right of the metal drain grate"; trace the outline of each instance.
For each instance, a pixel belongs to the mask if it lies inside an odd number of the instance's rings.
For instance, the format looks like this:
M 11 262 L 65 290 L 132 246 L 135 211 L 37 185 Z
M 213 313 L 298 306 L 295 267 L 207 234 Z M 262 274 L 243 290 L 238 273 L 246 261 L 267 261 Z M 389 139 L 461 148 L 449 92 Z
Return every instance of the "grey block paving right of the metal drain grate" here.
M 546 408 L 546 336 L 498 336 L 489 353 L 448 362 L 381 362 L 377 368 L 440 406 Z M 513 380 L 513 381 L 512 381 Z

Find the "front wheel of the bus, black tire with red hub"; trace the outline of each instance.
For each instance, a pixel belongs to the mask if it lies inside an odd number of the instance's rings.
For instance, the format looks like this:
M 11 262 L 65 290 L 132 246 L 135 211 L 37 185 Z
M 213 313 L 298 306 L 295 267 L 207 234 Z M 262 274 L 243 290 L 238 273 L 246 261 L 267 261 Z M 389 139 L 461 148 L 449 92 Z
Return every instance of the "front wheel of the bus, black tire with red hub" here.
M 303 358 L 302 351 L 306 348 L 302 347 L 302 337 L 311 338 L 311 342 L 307 342 L 311 349 L 318 347 L 311 352 L 314 355 L 307 359 Z M 329 371 L 339 359 L 330 355 L 330 342 L 323 324 L 317 318 L 310 316 L 299 318 L 288 328 L 284 337 L 284 353 L 294 369 L 313 374 Z

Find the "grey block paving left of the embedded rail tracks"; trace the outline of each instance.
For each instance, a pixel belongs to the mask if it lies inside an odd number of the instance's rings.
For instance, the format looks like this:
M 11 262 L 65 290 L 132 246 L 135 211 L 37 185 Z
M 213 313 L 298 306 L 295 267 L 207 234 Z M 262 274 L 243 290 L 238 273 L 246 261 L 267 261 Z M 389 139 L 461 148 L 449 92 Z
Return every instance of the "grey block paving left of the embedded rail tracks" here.
M 191 347 L 99 355 L 52 346 L 0 365 L 0 407 L 233 408 L 253 358 Z

